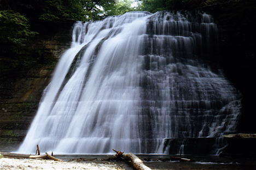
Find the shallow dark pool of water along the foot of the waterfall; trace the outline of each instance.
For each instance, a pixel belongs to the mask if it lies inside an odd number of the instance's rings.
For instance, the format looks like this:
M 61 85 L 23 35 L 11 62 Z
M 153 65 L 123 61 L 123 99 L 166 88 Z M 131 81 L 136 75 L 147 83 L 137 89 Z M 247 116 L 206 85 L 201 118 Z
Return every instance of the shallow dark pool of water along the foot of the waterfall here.
M 111 161 L 113 155 L 54 155 L 63 161 L 82 161 L 95 163 L 111 163 L 122 165 L 124 169 L 133 170 L 129 163 L 123 161 Z M 255 158 L 231 158 L 219 156 L 198 156 L 198 155 L 181 155 L 181 157 L 190 159 L 191 162 L 172 161 L 170 155 L 137 155 L 144 161 L 144 164 L 155 170 L 164 169 L 204 169 L 204 170 L 255 170 Z M 180 155 L 172 155 L 179 157 Z

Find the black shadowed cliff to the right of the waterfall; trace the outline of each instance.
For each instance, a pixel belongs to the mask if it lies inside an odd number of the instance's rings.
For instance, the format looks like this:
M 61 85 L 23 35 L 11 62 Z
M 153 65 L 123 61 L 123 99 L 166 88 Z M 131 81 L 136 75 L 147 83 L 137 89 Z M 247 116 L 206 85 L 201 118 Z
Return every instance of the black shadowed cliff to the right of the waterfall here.
M 216 62 L 243 96 L 238 132 L 255 133 L 256 26 L 253 23 L 256 21 L 256 1 L 207 2 L 208 5 L 202 10 L 214 16 L 219 30 L 219 55 Z

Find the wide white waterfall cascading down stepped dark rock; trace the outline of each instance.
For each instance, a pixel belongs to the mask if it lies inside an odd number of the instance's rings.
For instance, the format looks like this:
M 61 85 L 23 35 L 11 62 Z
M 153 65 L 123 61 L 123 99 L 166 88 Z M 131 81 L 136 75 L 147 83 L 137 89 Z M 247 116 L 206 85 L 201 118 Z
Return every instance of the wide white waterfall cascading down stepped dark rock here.
M 162 154 L 166 138 L 234 133 L 241 95 L 206 62 L 217 37 L 201 12 L 77 22 L 19 152 L 39 144 L 54 153 Z

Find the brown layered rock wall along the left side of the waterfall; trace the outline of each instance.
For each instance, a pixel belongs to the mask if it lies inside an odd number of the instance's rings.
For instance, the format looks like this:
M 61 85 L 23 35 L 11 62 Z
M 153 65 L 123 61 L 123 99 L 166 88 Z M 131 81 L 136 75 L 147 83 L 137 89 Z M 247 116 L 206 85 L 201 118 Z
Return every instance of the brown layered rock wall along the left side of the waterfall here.
M 39 37 L 31 44 L 52 61 L 57 61 L 71 42 L 73 21 L 41 23 L 36 26 Z M 37 112 L 43 90 L 49 84 L 55 64 L 37 65 L 19 77 L 9 77 L 0 84 L 0 150 L 19 147 Z

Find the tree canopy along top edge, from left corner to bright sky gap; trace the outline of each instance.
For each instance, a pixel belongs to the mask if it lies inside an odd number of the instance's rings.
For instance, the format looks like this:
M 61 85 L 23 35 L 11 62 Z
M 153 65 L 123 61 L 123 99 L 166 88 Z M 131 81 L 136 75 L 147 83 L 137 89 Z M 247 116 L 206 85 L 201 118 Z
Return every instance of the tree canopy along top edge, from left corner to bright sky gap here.
M 135 10 L 132 0 L 2 0 L 0 4 L 2 10 L 13 10 L 31 20 L 95 21 Z

